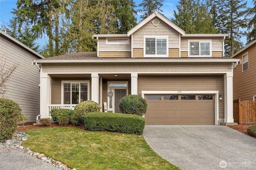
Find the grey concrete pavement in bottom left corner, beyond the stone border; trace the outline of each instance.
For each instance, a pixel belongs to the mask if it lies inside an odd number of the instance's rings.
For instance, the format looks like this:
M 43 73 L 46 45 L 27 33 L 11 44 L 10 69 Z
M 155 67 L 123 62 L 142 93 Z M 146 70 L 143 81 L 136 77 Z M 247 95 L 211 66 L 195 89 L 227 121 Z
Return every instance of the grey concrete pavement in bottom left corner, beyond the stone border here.
M 18 150 L 0 146 L 0 170 L 60 170 Z

